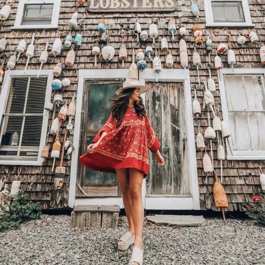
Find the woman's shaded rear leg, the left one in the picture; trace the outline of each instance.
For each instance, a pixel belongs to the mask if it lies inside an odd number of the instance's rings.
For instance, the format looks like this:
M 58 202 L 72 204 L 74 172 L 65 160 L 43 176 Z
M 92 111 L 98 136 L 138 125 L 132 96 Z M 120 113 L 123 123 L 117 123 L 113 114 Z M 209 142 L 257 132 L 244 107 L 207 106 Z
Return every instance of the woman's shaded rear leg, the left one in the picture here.
M 116 174 L 120 184 L 125 213 L 129 224 L 128 231 L 134 235 L 134 225 L 132 219 L 132 201 L 129 193 L 129 170 L 116 169 Z M 124 244 L 123 241 L 120 241 L 120 243 Z

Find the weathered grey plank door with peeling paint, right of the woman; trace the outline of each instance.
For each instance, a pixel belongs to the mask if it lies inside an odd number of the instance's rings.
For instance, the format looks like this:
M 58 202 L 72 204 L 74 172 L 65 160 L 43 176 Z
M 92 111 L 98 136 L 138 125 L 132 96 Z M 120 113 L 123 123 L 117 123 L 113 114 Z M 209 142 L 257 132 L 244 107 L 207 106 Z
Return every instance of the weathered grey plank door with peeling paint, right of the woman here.
M 161 142 L 164 167 L 150 154 L 146 197 L 190 194 L 184 92 L 182 83 L 147 83 L 146 108 Z

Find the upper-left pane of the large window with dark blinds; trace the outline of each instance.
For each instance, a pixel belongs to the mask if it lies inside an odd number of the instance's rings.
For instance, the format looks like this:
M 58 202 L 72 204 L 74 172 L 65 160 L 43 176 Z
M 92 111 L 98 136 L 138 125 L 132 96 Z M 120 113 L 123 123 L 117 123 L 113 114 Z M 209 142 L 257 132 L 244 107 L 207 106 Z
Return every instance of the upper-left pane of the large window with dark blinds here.
M 23 113 L 28 78 L 12 78 L 5 113 Z

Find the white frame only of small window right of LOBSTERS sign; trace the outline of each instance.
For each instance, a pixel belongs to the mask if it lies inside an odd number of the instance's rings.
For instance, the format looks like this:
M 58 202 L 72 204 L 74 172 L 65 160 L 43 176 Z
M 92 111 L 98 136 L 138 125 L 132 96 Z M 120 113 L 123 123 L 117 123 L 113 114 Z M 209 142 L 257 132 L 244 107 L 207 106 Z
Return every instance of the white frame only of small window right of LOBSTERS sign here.
M 214 22 L 211 2 L 242 2 L 245 22 Z M 248 0 L 204 0 L 204 9 L 206 17 L 206 27 L 254 27 L 251 20 L 250 8 Z

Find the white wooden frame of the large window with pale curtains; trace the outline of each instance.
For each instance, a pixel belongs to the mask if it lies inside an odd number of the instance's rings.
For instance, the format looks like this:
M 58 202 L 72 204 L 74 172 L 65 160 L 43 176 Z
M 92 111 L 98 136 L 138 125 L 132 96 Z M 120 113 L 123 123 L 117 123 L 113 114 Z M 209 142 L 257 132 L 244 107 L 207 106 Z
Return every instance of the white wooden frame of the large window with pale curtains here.
M 228 115 L 228 105 L 226 100 L 226 89 L 224 82 L 224 75 L 262 75 L 265 80 L 265 69 L 264 68 L 234 68 L 234 71 L 231 68 L 223 68 L 220 69 L 221 80 L 219 80 L 219 89 L 220 89 L 220 97 L 222 104 L 222 113 L 223 120 L 230 125 L 229 115 Z M 229 137 L 226 139 L 226 149 L 227 149 L 227 159 L 228 160 L 265 160 L 265 151 L 235 151 L 230 150 L 229 144 L 231 148 L 232 138 Z

